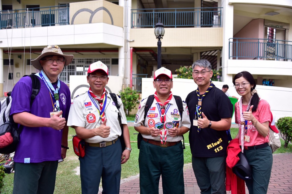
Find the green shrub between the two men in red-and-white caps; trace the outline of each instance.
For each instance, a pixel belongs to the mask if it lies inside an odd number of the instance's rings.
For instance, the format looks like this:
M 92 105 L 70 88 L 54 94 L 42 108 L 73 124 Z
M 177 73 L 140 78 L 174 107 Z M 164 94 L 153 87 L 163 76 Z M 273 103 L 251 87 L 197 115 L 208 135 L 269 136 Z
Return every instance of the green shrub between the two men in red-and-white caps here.
M 120 92 L 120 96 L 124 105 L 124 111 L 129 116 L 131 110 L 139 103 L 139 94 L 130 87 L 127 87 L 124 91 Z

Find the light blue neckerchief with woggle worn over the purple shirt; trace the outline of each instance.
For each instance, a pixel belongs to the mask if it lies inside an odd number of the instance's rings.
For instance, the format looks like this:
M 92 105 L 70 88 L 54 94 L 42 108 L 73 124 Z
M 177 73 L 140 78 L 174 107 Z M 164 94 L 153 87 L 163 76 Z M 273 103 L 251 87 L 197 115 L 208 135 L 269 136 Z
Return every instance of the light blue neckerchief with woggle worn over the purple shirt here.
M 49 80 L 49 78 L 46 76 L 45 73 L 44 74 L 43 73 L 44 73 L 44 71 L 41 70 L 41 72 L 36 73 L 35 75 L 38 76 L 38 77 L 40 77 L 44 81 L 44 83 L 46 84 L 46 87 L 48 88 L 48 90 L 49 90 L 52 98 L 54 99 L 54 102 L 55 102 L 54 107 L 53 107 L 54 108 L 54 111 L 58 111 L 58 110 L 60 111 L 59 90 L 60 90 L 60 87 L 61 87 L 61 82 L 60 82 L 60 80 L 58 80 L 57 88 L 55 89 L 53 87 L 53 84 Z M 54 94 L 53 94 L 52 91 L 54 92 Z M 56 95 L 56 97 L 58 95 L 58 97 L 55 98 L 55 95 Z

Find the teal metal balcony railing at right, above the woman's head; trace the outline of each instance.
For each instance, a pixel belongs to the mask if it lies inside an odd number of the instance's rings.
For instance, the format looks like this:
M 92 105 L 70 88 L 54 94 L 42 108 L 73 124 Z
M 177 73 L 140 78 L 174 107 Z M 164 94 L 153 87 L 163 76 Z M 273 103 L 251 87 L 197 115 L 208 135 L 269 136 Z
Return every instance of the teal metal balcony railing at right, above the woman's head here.
M 230 38 L 229 58 L 291 61 L 292 41 L 258 38 Z

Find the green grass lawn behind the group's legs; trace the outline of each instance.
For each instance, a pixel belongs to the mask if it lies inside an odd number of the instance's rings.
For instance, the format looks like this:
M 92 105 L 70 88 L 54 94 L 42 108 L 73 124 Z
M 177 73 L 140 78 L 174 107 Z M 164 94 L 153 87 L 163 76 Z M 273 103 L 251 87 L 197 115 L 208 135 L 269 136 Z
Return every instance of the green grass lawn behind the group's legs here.
M 134 117 L 135 118 L 135 117 Z M 122 165 L 121 178 L 131 177 L 139 173 L 138 156 L 139 150 L 137 148 L 137 132 L 134 127 L 129 127 L 130 140 L 132 152 L 130 159 L 127 163 Z M 231 128 L 231 136 L 234 138 L 238 133 L 238 128 Z M 75 135 L 75 130 L 69 128 L 68 134 L 68 147 L 70 149 L 67 151 L 67 156 L 64 162 L 59 163 L 56 177 L 55 193 L 58 194 L 68 194 L 68 193 L 81 193 L 81 182 L 80 176 L 77 175 L 77 168 L 79 167 L 78 157 L 74 154 L 72 149 L 72 136 Z M 185 137 L 185 150 L 184 150 L 184 163 L 191 163 L 192 155 L 189 146 L 189 133 L 184 135 Z M 281 140 L 281 148 L 279 148 L 274 154 L 292 152 L 292 145 L 289 144 L 288 148 L 284 148 L 284 141 Z M 6 174 L 4 177 L 4 187 L 1 189 L 1 193 L 12 193 L 13 188 L 13 173 Z

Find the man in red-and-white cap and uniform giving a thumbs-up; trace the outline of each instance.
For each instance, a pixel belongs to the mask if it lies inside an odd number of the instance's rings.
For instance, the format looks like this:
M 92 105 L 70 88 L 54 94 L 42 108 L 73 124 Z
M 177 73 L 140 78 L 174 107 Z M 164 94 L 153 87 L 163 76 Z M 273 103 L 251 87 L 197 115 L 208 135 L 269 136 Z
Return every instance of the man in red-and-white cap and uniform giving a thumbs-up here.
M 101 61 L 91 64 L 87 71 L 89 90 L 73 100 L 68 126 L 75 129 L 79 138 L 85 140 L 85 156 L 79 157 L 82 193 L 98 193 L 102 178 L 102 193 L 119 193 L 121 164 L 130 157 L 131 144 L 123 103 L 114 100 L 105 85 L 108 83 L 108 68 Z M 121 117 L 126 145 L 122 151 Z

